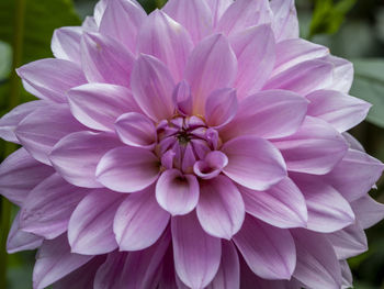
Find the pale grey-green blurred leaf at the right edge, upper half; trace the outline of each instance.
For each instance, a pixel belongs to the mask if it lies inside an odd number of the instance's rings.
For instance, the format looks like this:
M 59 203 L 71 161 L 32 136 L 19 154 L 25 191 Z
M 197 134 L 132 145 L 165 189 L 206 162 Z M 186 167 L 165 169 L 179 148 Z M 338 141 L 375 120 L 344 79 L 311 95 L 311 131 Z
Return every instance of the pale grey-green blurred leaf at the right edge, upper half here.
M 352 62 L 354 81 L 351 95 L 372 103 L 366 120 L 384 127 L 384 58 Z

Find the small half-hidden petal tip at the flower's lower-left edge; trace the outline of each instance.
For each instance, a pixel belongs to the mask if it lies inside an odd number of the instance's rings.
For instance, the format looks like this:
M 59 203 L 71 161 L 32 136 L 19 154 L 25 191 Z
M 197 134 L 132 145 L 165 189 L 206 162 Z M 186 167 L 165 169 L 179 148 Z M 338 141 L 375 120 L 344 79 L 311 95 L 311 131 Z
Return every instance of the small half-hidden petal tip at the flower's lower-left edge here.
M 13 220 L 7 240 L 7 252 L 13 254 L 21 251 L 35 249 L 43 244 L 44 238 L 20 230 L 20 213 Z

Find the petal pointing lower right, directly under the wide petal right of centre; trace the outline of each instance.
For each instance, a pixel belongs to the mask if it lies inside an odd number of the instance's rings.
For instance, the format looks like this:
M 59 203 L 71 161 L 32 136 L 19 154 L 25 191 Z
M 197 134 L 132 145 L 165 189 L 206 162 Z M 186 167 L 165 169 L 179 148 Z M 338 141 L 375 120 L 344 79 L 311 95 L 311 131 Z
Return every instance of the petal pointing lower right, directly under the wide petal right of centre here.
M 253 191 L 240 187 L 247 213 L 271 225 L 286 227 L 305 227 L 308 213 L 301 190 L 285 178 L 267 191 Z

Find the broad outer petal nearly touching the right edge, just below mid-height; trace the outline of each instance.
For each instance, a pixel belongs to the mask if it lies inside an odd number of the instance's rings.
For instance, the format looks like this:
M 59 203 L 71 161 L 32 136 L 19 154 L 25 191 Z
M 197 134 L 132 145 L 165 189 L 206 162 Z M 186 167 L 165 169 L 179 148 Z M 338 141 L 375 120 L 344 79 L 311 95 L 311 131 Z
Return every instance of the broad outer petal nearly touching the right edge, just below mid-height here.
M 384 165 L 363 152 L 349 149 L 342 160 L 325 179 L 332 185 L 348 201 L 363 196 L 379 180 Z

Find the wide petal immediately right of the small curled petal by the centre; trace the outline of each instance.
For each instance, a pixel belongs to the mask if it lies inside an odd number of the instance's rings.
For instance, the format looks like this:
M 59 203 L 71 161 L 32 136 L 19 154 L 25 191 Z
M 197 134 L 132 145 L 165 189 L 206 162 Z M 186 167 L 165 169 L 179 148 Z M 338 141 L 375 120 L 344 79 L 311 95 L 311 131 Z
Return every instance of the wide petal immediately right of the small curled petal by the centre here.
M 222 152 L 228 157 L 224 174 L 249 189 L 266 190 L 286 176 L 280 152 L 260 137 L 234 138 L 224 144 Z

